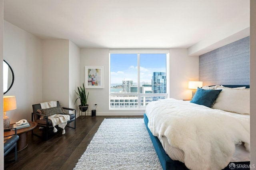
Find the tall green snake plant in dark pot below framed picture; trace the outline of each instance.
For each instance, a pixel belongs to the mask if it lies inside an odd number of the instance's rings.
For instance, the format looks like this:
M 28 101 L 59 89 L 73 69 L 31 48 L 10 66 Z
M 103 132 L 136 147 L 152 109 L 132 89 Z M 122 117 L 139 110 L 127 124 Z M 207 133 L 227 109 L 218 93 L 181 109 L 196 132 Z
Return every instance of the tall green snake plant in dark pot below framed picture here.
M 79 105 L 79 109 L 82 111 L 82 112 L 85 112 L 87 109 L 88 109 L 88 104 L 87 104 L 87 99 L 88 99 L 88 96 L 89 96 L 89 92 L 86 94 L 86 91 L 85 91 L 85 88 L 84 88 L 84 83 L 83 83 L 83 86 L 81 87 L 77 87 L 78 88 L 78 92 L 76 92 L 78 98 L 80 99 L 80 102 L 81 102 L 81 105 Z M 76 98 L 76 100 L 78 99 Z M 76 104 L 76 101 L 75 101 L 75 104 Z M 85 107 L 87 106 L 87 107 Z

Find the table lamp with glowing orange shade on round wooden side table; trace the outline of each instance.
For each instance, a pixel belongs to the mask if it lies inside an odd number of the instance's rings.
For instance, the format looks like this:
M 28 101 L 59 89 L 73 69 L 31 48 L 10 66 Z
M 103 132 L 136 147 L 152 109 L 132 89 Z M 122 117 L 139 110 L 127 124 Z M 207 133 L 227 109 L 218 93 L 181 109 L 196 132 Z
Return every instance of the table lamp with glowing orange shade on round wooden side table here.
M 17 108 L 15 96 L 4 96 L 3 104 L 4 104 L 4 107 L 3 107 L 4 108 L 4 128 L 9 128 L 10 118 L 6 116 L 6 112 Z

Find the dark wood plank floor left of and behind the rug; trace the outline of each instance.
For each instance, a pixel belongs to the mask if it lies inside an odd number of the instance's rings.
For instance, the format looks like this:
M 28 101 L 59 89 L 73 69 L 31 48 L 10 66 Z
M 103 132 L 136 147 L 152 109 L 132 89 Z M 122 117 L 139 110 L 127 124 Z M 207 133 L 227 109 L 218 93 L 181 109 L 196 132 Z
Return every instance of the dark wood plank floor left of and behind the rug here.
M 18 152 L 17 160 L 11 161 L 14 154 L 4 157 L 5 170 L 73 170 L 78 159 L 86 150 L 104 118 L 143 118 L 143 116 L 89 116 L 77 118 L 76 129 L 66 127 L 43 141 L 28 133 L 28 146 Z M 73 122 L 70 123 L 73 126 Z M 34 130 L 41 133 L 38 128 Z

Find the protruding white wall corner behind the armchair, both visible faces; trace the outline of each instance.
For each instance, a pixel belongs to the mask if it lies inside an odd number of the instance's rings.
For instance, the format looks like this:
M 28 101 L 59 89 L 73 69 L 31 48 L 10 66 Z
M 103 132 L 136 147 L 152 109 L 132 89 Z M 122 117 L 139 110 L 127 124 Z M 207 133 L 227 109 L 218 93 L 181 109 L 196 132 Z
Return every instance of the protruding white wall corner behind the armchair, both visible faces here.
M 43 40 L 42 102 L 58 100 L 62 106 L 74 105 L 80 84 L 80 48 L 70 40 Z

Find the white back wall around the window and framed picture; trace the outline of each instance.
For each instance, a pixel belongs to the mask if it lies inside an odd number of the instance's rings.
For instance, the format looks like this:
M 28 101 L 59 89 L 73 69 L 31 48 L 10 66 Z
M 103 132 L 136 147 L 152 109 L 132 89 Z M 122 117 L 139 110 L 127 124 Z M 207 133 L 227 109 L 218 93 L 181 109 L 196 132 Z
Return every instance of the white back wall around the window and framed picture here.
M 83 48 L 80 58 L 80 84 L 85 81 L 85 66 L 104 66 L 104 88 L 89 92 L 89 114 L 98 104 L 96 115 L 142 115 L 145 110 L 109 110 L 109 49 Z M 198 56 L 188 56 L 186 49 L 170 49 L 170 97 L 191 98 L 188 81 L 198 80 Z

